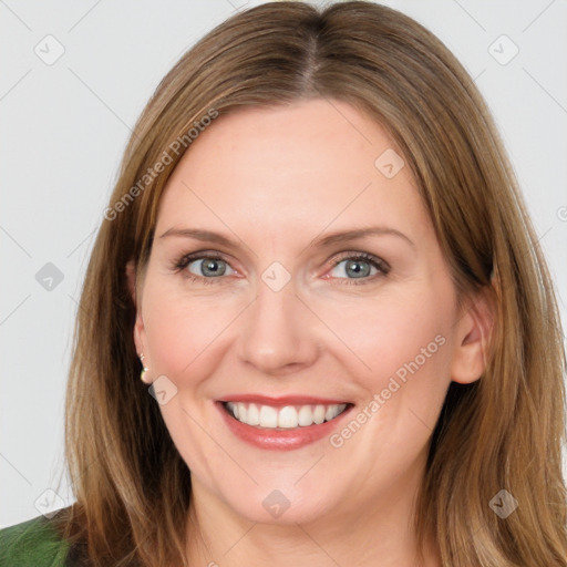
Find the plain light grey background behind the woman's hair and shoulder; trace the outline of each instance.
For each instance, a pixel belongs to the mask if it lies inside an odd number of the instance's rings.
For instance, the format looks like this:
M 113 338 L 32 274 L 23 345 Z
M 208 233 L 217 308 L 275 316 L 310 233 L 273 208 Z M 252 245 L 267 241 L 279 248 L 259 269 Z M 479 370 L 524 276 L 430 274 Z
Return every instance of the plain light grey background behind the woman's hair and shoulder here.
M 59 496 L 49 492 L 63 465 L 72 324 L 131 128 L 184 51 L 259 3 L 0 0 L 1 527 L 73 502 L 64 483 Z M 567 2 L 383 3 L 436 33 L 485 95 L 566 321 Z M 58 43 L 64 53 L 47 64 Z M 63 276 L 52 290 L 35 278 L 48 262 Z

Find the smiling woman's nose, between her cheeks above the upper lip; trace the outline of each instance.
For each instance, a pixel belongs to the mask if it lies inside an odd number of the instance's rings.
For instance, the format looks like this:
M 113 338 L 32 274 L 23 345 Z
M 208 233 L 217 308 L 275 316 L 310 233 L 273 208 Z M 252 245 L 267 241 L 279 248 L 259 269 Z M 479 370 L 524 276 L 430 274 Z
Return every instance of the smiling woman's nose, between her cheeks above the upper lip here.
M 286 375 L 311 365 L 319 354 L 318 320 L 296 292 L 293 280 L 279 291 L 264 281 L 243 313 L 240 360 L 270 375 Z

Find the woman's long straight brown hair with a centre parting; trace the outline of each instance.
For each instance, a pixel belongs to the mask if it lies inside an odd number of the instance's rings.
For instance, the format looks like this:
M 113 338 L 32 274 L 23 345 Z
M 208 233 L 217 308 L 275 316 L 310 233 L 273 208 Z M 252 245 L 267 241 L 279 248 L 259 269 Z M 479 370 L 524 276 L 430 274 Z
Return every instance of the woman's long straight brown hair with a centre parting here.
M 486 371 L 450 385 L 432 436 L 420 538 L 433 526 L 452 567 L 565 567 L 565 351 L 517 182 L 452 53 L 412 19 L 362 1 L 272 2 L 234 16 L 178 61 L 142 113 L 76 318 L 65 422 L 76 503 L 55 516 L 62 534 L 91 565 L 186 565 L 190 475 L 140 380 L 126 262 L 135 260 L 140 277 L 164 186 L 215 116 L 312 97 L 346 101 L 386 128 L 458 292 L 491 289 L 496 298 Z M 491 506 L 503 489 L 518 503 L 506 518 Z

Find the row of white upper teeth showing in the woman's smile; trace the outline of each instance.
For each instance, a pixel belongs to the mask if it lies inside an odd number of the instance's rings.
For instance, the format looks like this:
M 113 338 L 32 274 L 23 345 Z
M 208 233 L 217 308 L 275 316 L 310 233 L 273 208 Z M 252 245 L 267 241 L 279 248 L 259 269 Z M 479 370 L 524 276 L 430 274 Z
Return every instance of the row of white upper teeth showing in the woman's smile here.
M 247 425 L 295 429 L 331 421 L 346 410 L 347 404 L 286 405 L 278 410 L 271 405 L 227 402 L 226 408 L 239 422 Z

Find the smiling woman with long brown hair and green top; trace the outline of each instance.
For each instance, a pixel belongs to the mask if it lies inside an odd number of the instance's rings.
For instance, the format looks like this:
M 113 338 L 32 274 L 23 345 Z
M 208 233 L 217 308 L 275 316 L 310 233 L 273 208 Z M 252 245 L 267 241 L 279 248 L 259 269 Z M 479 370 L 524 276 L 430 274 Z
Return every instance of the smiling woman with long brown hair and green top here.
M 430 32 L 365 2 L 235 16 L 163 80 L 104 216 L 78 502 L 3 530 L 2 565 L 567 565 L 549 275 Z

